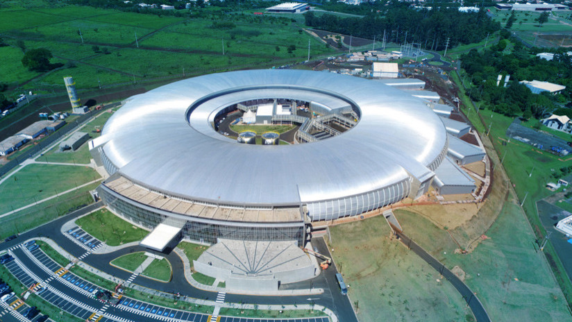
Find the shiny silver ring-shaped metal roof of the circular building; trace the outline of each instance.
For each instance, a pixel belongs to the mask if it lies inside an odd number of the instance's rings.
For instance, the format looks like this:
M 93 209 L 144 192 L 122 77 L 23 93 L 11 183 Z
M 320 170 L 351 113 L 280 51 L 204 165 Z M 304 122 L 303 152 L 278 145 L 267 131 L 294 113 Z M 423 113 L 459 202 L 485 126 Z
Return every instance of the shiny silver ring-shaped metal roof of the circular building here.
M 288 146 L 237 144 L 214 130 L 205 133 L 212 110 L 192 112 L 193 126 L 187 120 L 187 110 L 205 96 L 224 92 L 236 102 L 229 90 L 267 85 L 342 97 L 362 117 L 342 135 Z M 387 187 L 400 200 L 409 194 L 404 182 L 427 176 L 447 145 L 441 119 L 410 94 L 352 76 L 272 69 L 199 76 L 133 96 L 98 141 L 108 170 L 171 196 L 238 206 L 317 205 Z

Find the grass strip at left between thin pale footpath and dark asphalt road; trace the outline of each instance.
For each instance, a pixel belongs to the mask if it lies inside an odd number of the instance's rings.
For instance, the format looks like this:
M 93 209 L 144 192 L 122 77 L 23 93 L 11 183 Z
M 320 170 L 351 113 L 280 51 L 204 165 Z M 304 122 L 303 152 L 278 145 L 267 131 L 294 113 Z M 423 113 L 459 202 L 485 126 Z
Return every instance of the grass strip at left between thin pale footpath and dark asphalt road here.
M 44 203 L 26 208 L 15 214 L 2 217 L 0 225 L 0 237 L 5 238 L 15 233 L 40 226 L 48 221 L 56 219 L 68 212 L 93 203 L 90 190 L 95 189 L 99 183 L 93 183 L 83 188 L 62 194 Z

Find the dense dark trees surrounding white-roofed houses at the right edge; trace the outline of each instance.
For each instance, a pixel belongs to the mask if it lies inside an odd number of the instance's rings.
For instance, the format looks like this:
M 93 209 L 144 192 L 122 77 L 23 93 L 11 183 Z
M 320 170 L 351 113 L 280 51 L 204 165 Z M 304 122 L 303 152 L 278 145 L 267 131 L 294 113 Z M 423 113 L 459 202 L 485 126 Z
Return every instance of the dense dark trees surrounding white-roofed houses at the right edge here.
M 467 94 L 473 101 L 482 101 L 485 106 L 508 116 L 541 118 L 572 99 L 572 61 L 564 49 L 543 49 L 557 53 L 553 60 L 545 60 L 534 55 L 539 49 L 526 49 L 507 31 L 503 30 L 500 35 L 500 41 L 489 50 L 473 49 L 461 57 L 462 68 L 469 74 L 466 82 L 471 84 Z M 514 47 L 507 50 L 509 44 Z M 496 86 L 499 74 L 503 80 Z M 505 75 L 510 75 L 507 87 L 502 85 Z M 559 95 L 532 94 L 520 80 L 548 81 L 565 85 L 566 90 Z

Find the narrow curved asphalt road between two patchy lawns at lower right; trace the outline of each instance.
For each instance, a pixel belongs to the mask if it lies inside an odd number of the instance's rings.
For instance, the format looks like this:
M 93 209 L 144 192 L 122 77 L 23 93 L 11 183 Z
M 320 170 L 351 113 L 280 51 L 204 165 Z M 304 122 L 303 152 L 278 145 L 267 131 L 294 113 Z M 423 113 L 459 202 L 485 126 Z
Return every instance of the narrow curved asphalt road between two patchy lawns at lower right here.
M 451 282 L 453 287 L 459 291 L 466 303 L 469 305 L 469 307 L 471 307 L 471 310 L 473 311 L 473 314 L 475 315 L 475 318 L 478 322 L 491 321 L 489 314 L 487 314 L 487 311 L 485 310 L 485 307 L 482 306 L 482 303 L 480 303 L 480 300 L 475 294 L 473 294 L 473 291 L 471 291 L 471 289 L 469 289 L 469 287 L 467 287 L 465 283 L 460 280 L 460 278 L 453 274 L 453 272 L 449 271 L 445 265 L 441 264 L 441 262 L 436 260 L 435 257 L 432 257 L 429 253 L 427 253 L 423 248 L 421 248 L 421 246 L 413 242 L 412 239 L 403 235 L 402 232 L 398 232 L 397 235 L 399 238 L 401 238 L 401 242 L 403 242 L 403 244 L 407 245 L 414 253 L 419 255 L 422 260 L 426 261 L 427 264 L 430 264 L 432 268 L 434 268 L 444 278 Z

